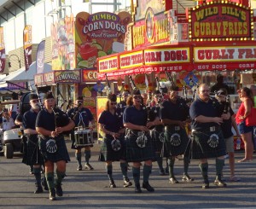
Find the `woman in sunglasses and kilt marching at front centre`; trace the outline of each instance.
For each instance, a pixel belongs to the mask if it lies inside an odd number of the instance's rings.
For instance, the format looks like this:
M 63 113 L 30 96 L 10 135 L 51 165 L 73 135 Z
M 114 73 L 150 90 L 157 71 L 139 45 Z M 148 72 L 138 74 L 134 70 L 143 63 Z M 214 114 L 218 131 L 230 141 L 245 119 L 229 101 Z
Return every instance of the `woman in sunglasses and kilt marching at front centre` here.
M 132 90 L 127 99 L 127 107 L 124 113 L 124 126 L 126 131 L 126 160 L 132 162 L 132 175 L 135 183 L 135 192 L 142 193 L 140 186 L 140 166 L 143 166 L 143 189 L 154 192 L 154 188 L 148 183 L 154 160 L 154 147 L 149 135 L 149 127 L 154 122 L 148 122 L 147 108 L 143 105 L 143 98 L 139 90 Z

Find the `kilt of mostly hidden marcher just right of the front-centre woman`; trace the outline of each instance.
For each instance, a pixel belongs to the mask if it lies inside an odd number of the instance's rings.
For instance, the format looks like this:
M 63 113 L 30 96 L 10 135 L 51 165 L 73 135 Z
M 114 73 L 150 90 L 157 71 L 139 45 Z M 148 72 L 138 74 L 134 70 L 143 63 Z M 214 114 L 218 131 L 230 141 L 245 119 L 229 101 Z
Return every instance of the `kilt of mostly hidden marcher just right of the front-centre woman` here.
M 164 127 L 155 127 L 153 130 L 150 131 L 150 136 L 153 141 L 154 152 L 160 153 L 163 148 L 163 138 L 164 138 Z M 162 140 L 160 140 L 162 137 Z

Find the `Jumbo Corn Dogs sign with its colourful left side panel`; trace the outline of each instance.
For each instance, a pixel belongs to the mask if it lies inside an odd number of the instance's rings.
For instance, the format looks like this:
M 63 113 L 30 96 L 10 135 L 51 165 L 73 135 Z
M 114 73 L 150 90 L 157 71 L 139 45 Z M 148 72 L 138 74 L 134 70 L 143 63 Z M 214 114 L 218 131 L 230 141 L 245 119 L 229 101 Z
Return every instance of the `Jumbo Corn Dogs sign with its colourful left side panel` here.
M 131 15 L 80 12 L 60 19 L 51 26 L 52 69 L 95 68 L 96 59 L 124 51 L 124 40 Z

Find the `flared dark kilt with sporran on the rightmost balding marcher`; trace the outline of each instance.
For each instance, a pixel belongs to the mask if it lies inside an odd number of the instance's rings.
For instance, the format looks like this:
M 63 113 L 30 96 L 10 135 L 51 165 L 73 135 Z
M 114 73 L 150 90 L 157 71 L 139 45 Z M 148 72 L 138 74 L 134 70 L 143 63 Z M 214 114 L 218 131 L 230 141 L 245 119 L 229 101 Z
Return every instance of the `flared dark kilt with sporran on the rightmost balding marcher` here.
M 217 158 L 226 154 L 222 131 L 193 131 L 185 156 L 200 160 Z

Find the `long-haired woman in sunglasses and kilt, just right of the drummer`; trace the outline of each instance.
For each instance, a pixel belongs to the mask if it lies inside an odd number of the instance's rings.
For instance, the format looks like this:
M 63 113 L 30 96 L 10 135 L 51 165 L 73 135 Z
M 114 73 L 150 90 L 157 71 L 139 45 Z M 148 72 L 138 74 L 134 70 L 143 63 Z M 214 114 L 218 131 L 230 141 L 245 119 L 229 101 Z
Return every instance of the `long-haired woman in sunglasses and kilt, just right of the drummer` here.
M 130 187 L 131 181 L 127 176 L 127 163 L 125 161 L 125 128 L 122 118 L 119 118 L 116 95 L 108 95 L 105 110 L 98 120 L 101 131 L 105 134 L 99 160 L 106 163 L 106 171 L 109 178 L 109 188 L 116 188 L 113 181 L 113 161 L 120 161 L 120 167 L 124 179 L 124 187 Z

